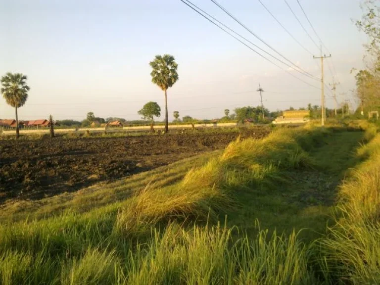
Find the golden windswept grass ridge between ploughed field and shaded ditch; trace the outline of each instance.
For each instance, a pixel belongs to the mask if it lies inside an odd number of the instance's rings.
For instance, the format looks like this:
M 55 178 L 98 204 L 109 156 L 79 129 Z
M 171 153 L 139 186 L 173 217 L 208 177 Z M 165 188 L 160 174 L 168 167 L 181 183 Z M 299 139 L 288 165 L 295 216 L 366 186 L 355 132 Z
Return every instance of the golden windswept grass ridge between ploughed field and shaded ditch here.
M 117 229 L 131 236 L 173 219 L 215 221 L 220 212 L 235 206 L 234 187 L 258 187 L 280 179 L 279 169 L 311 166 L 303 148 L 323 140 L 320 132 L 282 129 L 263 140 L 231 142 L 222 155 L 191 169 L 180 183 L 158 189 L 148 186 L 135 195 L 119 210 Z

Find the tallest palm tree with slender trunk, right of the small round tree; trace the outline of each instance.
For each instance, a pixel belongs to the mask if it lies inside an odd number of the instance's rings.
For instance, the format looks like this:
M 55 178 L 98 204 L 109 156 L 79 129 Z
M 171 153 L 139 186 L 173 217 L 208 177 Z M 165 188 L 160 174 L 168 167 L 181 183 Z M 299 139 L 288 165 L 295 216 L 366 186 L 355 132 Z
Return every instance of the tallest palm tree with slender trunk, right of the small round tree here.
M 172 87 L 178 80 L 177 67 L 174 56 L 164 54 L 164 56 L 156 55 L 150 66 L 152 72 L 152 83 L 157 85 L 163 92 L 165 92 L 165 133 L 168 131 L 168 99 L 166 92 L 168 88 Z

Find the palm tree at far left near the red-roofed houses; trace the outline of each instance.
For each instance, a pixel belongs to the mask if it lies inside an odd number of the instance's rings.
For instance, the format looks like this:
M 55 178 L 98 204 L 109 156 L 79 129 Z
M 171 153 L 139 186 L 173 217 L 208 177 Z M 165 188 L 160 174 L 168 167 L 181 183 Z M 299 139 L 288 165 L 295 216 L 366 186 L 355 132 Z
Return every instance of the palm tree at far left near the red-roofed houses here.
M 22 73 L 8 72 L 1 77 L 1 94 L 6 103 L 16 110 L 16 138 L 20 137 L 18 130 L 17 108 L 22 107 L 28 99 L 29 86 L 26 85 L 27 76 Z

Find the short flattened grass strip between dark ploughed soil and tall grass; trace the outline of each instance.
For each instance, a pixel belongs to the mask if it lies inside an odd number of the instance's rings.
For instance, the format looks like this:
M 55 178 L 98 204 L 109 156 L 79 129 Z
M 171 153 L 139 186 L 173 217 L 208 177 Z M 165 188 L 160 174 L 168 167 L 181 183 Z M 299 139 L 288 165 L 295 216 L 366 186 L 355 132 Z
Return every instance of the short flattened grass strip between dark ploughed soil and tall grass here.
M 63 193 L 36 201 L 10 201 L 0 207 L 0 222 L 25 220 L 28 218 L 46 218 L 51 215 L 70 212 L 83 213 L 91 209 L 123 201 L 153 183 L 156 187 L 165 187 L 183 179 L 194 166 L 201 166 L 211 157 L 221 153 L 200 154 L 183 159 L 170 165 L 133 175 L 109 184 L 103 183 L 71 193 Z

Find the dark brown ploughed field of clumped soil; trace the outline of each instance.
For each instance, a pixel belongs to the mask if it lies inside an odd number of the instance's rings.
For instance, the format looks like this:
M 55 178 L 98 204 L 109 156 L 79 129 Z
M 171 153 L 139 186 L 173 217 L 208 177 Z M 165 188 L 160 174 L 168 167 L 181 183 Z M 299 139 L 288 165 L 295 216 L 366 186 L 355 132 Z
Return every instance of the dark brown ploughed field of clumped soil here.
M 165 136 L 1 140 L 0 203 L 39 199 L 221 149 L 239 135 L 262 138 L 268 131 L 185 133 Z

